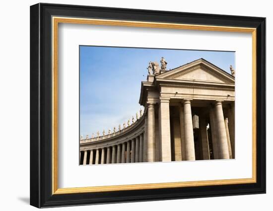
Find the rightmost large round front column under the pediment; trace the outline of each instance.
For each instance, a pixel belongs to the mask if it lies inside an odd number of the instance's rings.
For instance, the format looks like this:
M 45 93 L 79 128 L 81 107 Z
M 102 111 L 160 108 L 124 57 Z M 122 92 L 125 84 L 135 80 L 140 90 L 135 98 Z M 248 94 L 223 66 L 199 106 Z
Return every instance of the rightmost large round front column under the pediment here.
M 219 158 L 229 159 L 224 114 L 223 114 L 221 101 L 216 101 L 215 103 L 215 117 L 216 117 L 217 129 L 218 129 Z

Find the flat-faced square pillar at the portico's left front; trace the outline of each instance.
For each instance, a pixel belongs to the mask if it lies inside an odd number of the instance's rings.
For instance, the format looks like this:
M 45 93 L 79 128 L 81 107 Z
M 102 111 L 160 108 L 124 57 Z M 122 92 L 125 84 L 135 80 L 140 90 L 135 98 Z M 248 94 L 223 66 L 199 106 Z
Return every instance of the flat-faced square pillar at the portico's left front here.
M 158 110 L 159 122 L 159 143 L 160 154 L 162 161 L 171 161 L 171 129 L 170 129 L 170 108 L 169 98 L 160 98 L 160 105 Z

